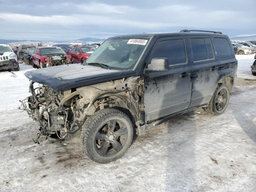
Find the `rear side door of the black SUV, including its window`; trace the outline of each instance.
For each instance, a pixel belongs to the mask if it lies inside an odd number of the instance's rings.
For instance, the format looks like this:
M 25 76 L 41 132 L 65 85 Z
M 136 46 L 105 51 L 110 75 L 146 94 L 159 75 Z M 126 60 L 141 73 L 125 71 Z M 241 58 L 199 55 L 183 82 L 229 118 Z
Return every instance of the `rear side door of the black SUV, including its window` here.
M 220 76 L 220 65 L 214 55 L 210 36 L 190 37 L 192 52 L 192 95 L 190 107 L 210 102 Z

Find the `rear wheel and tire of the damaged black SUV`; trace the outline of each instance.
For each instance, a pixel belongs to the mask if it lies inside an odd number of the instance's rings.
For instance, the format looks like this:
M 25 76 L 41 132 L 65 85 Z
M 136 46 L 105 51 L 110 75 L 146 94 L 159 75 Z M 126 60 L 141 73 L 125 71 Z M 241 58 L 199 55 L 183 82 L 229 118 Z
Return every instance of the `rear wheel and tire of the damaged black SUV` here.
M 227 108 L 230 92 L 225 84 L 218 84 L 208 106 L 203 109 L 212 115 L 221 115 Z

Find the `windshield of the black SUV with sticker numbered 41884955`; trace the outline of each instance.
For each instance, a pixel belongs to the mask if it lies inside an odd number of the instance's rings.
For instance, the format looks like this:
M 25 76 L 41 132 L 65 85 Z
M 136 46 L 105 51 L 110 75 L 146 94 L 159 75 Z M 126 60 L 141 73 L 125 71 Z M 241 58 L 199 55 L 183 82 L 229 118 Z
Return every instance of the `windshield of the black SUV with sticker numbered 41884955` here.
M 86 63 L 100 63 L 109 68 L 131 70 L 146 47 L 148 38 L 110 38 L 86 60 Z

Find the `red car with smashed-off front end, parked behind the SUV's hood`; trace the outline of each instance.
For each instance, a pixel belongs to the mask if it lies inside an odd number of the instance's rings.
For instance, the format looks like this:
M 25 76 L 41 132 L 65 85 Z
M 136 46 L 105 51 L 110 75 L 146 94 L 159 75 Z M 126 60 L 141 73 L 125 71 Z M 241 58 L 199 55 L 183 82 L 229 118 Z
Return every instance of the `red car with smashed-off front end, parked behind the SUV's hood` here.
M 32 54 L 33 67 L 45 68 L 71 63 L 71 56 L 60 47 L 37 47 Z

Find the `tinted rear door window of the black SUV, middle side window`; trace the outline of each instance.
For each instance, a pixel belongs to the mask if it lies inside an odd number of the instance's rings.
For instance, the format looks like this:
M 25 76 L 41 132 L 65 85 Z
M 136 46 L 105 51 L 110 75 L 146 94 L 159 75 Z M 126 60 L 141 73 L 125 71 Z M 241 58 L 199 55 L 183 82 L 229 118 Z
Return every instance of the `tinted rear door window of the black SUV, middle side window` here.
M 213 59 L 212 44 L 209 38 L 191 38 L 194 61 Z

